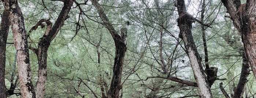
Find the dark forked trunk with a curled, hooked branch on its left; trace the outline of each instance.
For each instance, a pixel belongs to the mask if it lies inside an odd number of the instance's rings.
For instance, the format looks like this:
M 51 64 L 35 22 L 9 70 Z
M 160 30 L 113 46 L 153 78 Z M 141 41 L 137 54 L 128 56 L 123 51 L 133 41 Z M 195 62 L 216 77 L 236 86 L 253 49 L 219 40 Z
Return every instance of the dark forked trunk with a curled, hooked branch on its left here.
M 38 43 L 38 48 L 30 48 L 37 54 L 38 60 L 38 80 L 37 80 L 37 91 L 36 98 L 44 97 L 45 81 L 47 79 L 47 51 L 50 46 L 51 41 L 55 38 L 64 21 L 68 17 L 68 12 L 73 5 L 73 0 L 64 0 L 64 6 L 59 14 L 55 24 L 52 27 L 52 23 L 49 20 L 41 19 L 36 26 L 32 27 L 30 32 L 36 30 L 38 26 L 42 26 L 42 22 L 47 23 L 47 29 L 43 37 L 40 38 Z

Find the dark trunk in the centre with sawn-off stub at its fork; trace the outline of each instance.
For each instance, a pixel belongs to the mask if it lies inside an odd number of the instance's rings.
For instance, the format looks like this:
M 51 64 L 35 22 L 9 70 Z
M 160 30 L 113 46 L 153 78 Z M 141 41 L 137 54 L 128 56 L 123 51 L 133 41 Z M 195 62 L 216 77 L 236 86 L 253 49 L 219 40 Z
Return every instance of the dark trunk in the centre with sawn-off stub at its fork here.
M 101 20 L 103 21 L 103 25 L 110 31 L 112 38 L 115 42 L 115 61 L 113 67 L 113 76 L 111 80 L 110 89 L 108 90 L 108 97 L 110 98 L 118 98 L 119 91 L 122 88 L 120 85 L 121 75 L 123 70 L 123 60 L 125 58 L 126 52 L 126 37 L 127 37 L 127 29 L 122 28 L 121 35 L 114 29 L 112 24 L 107 18 L 107 15 L 104 13 L 103 8 L 100 6 L 98 0 L 91 0 L 92 4 L 96 8 L 98 14 L 100 15 Z

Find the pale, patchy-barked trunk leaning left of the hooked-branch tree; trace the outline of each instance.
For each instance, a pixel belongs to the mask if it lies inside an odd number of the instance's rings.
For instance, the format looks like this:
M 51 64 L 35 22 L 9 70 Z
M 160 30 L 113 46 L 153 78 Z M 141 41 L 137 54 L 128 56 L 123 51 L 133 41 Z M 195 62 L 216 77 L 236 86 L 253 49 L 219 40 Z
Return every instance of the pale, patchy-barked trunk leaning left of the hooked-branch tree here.
M 31 80 L 27 34 L 21 9 L 19 8 L 17 0 L 3 0 L 3 3 L 5 10 L 10 12 L 9 19 L 14 35 L 14 45 L 17 51 L 21 97 L 35 98 L 36 94 Z

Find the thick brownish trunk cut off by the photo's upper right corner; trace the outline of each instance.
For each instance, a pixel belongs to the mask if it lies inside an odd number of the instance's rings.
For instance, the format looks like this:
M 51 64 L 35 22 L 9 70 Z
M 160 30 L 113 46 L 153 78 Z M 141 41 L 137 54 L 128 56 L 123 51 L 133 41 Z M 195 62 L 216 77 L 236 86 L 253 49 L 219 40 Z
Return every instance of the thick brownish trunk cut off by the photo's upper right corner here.
M 256 76 L 256 1 L 246 0 L 221 0 L 233 20 L 233 24 L 241 34 L 244 43 L 245 57 L 251 66 L 253 75 Z M 255 78 L 256 79 L 256 78 Z

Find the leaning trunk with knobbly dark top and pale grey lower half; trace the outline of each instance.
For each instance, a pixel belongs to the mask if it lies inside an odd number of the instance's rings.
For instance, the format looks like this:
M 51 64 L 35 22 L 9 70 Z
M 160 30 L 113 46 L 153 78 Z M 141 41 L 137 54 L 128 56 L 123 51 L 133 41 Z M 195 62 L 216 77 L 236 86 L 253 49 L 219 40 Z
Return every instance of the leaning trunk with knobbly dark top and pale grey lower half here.
M 187 50 L 189 60 L 194 72 L 194 77 L 196 79 L 197 85 L 200 90 L 201 98 L 212 98 L 211 89 L 208 85 L 208 81 L 204 74 L 203 67 L 201 65 L 201 57 L 197 52 L 196 45 L 192 37 L 192 23 L 195 21 L 192 15 L 186 13 L 184 0 L 176 0 L 175 6 L 178 9 L 179 18 L 178 26 L 180 29 L 180 37 L 183 39 L 185 48 Z

